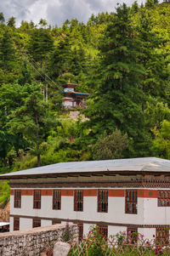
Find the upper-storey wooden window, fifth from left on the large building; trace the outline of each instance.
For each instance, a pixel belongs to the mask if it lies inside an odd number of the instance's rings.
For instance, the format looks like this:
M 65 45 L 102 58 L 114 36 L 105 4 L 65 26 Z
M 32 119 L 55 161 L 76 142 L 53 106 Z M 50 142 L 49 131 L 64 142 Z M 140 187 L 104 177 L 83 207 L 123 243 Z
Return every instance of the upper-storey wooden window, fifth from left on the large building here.
M 108 212 L 108 191 L 106 190 L 98 191 L 98 212 L 99 213 Z

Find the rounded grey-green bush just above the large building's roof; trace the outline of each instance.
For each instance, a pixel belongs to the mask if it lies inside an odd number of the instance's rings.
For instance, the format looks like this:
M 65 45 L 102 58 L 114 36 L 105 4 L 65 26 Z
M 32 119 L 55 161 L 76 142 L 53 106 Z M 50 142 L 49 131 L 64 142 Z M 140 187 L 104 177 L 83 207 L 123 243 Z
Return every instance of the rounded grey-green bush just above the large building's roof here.
M 116 129 L 112 134 L 104 134 L 96 144 L 92 146 L 92 156 L 94 160 L 122 158 L 122 151 L 127 149 L 127 134 L 122 135 Z

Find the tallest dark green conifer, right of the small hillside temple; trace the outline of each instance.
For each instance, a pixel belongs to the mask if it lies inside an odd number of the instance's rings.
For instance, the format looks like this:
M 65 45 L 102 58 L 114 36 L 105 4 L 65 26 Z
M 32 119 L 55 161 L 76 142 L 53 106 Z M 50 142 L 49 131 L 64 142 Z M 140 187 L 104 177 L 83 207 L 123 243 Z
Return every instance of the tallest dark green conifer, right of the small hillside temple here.
M 135 146 L 144 141 L 143 93 L 140 78 L 144 73 L 139 64 L 140 42 L 129 20 L 125 4 L 116 9 L 100 46 L 98 89 L 88 106 L 89 125 L 94 134 L 120 129 Z M 141 149 L 142 151 L 142 149 Z M 142 152 L 138 152 L 142 154 Z

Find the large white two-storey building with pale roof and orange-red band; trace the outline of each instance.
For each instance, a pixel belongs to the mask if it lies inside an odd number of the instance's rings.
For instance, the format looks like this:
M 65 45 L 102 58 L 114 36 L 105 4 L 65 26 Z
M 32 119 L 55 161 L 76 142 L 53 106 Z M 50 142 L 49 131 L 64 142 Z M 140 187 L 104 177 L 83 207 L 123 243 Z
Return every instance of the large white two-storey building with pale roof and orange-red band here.
M 10 230 L 77 223 L 106 235 L 135 230 L 167 239 L 170 161 L 156 157 L 60 162 L 3 174 L 10 179 Z

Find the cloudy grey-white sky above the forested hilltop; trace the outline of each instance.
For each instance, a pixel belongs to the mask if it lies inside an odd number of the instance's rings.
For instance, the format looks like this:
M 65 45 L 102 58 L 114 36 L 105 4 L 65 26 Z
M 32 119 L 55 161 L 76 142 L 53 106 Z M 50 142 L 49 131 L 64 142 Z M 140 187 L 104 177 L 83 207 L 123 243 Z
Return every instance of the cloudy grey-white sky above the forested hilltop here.
M 0 12 L 6 21 L 14 16 L 16 26 L 21 20 L 38 24 L 41 18 L 52 26 L 62 26 L 66 19 L 86 23 L 91 14 L 115 11 L 116 3 L 123 2 L 131 6 L 134 0 L 0 0 Z

